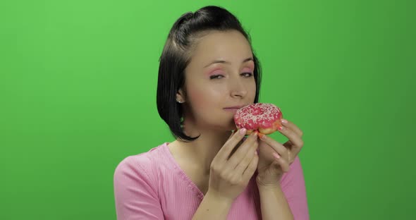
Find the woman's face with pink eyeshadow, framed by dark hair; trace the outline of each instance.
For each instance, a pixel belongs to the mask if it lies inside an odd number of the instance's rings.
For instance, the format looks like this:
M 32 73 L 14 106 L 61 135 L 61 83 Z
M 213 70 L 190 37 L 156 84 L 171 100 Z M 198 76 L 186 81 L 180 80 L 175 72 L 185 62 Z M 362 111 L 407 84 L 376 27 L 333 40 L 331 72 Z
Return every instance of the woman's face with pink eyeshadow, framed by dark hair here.
M 254 68 L 250 44 L 240 32 L 204 35 L 185 68 L 185 118 L 198 128 L 235 129 L 235 111 L 255 100 Z

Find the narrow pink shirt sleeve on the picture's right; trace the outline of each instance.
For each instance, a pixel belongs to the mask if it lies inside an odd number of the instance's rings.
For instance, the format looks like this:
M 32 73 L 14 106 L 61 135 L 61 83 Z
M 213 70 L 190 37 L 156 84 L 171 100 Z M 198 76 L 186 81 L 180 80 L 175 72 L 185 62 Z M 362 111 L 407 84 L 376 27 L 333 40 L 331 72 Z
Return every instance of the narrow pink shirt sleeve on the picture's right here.
M 294 219 L 309 220 L 305 179 L 298 156 L 290 164 L 290 171 L 282 176 L 281 187 L 286 200 L 288 200 Z

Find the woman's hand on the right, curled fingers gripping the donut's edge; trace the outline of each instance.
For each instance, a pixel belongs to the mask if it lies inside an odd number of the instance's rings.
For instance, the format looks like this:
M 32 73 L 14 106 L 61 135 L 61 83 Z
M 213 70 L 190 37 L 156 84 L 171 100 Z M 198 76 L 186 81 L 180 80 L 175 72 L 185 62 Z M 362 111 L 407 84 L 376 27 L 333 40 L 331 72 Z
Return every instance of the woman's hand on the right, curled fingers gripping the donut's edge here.
M 279 131 L 289 140 L 283 145 L 267 135 L 259 134 L 259 161 L 257 164 L 257 184 L 276 185 L 289 171 L 289 165 L 303 147 L 302 130 L 294 123 L 282 119 Z

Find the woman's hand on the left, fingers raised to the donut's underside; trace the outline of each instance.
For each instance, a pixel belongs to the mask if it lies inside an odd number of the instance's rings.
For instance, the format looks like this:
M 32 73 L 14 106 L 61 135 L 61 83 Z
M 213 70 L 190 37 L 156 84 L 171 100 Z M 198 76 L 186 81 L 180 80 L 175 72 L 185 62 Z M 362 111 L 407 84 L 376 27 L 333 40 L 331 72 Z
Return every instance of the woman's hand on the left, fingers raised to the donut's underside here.
M 231 155 L 245 133 L 242 128 L 231 135 L 212 160 L 207 194 L 232 202 L 247 187 L 259 161 L 257 133 L 252 133 Z

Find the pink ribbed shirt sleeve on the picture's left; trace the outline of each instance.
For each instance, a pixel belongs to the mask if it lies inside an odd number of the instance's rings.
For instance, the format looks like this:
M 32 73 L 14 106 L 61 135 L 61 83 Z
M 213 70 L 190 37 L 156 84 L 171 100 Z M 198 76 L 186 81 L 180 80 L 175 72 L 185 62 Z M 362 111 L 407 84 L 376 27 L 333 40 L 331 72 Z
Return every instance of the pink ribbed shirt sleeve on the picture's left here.
M 114 171 L 114 197 L 118 220 L 164 219 L 154 181 L 139 161 L 127 157 Z

